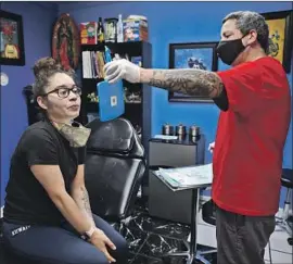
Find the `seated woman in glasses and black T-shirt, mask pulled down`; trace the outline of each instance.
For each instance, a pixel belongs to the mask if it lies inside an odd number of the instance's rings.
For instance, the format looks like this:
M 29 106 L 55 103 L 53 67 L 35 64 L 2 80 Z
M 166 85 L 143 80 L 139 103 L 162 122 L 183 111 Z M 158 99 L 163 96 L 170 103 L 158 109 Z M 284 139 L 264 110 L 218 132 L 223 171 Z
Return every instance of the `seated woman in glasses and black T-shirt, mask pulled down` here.
M 126 240 L 91 213 L 84 179 L 90 129 L 72 122 L 81 95 L 74 74 L 52 58 L 40 59 L 34 73 L 44 117 L 24 131 L 11 160 L 4 242 L 42 264 L 125 264 Z

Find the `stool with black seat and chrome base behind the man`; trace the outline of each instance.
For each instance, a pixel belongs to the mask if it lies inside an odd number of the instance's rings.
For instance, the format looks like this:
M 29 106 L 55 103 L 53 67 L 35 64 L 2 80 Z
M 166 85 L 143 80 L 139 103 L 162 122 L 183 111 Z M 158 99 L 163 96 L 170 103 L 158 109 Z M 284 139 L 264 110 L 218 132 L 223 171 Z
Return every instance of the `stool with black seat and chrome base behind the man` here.
M 293 190 L 293 169 L 283 168 L 281 185 L 286 188 L 286 196 L 284 201 L 284 209 L 282 216 L 279 218 L 278 226 L 285 230 L 289 236 L 292 237 L 292 216 L 290 216 L 290 211 L 292 210 L 292 190 Z

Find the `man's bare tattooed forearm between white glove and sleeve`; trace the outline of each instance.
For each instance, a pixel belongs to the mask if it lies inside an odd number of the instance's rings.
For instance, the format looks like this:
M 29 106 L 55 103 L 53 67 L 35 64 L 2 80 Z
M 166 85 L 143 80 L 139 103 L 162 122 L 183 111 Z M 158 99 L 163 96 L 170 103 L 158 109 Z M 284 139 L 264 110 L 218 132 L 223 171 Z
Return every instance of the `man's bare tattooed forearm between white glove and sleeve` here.
M 141 68 L 140 83 L 164 88 L 174 92 L 209 98 L 219 97 L 224 89 L 224 84 L 216 73 L 196 68 Z

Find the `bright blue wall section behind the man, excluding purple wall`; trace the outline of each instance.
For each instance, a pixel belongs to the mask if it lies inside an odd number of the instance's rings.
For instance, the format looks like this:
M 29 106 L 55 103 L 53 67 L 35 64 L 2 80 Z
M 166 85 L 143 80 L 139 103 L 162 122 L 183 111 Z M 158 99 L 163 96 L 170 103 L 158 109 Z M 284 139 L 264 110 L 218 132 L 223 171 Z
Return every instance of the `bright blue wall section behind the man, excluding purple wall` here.
M 174 42 L 218 41 L 222 17 L 232 11 L 251 10 L 259 13 L 291 10 L 291 2 L 111 2 L 60 3 L 59 12 L 69 13 L 76 23 L 97 21 L 99 16 L 127 17 L 139 14 L 148 17 L 149 41 L 153 46 L 152 67 L 168 67 L 168 45 Z M 227 68 L 219 63 L 219 70 Z M 292 72 L 288 75 L 292 87 Z M 169 103 L 165 90 L 152 91 L 152 135 L 160 134 L 169 123 L 187 126 L 196 124 L 206 136 L 207 144 L 216 134 L 219 110 L 214 104 Z M 206 162 L 212 161 L 208 151 Z M 284 167 L 292 167 L 292 127 L 284 149 Z M 284 190 L 280 204 L 282 205 Z

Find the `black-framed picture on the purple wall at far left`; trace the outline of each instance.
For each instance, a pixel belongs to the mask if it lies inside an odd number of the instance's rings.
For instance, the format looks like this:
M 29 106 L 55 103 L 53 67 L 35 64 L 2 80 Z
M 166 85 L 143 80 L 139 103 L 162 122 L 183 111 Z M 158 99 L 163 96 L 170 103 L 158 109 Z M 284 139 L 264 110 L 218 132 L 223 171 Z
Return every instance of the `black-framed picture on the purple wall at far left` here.
M 23 18 L 18 14 L 0 11 L 0 64 L 25 65 Z

